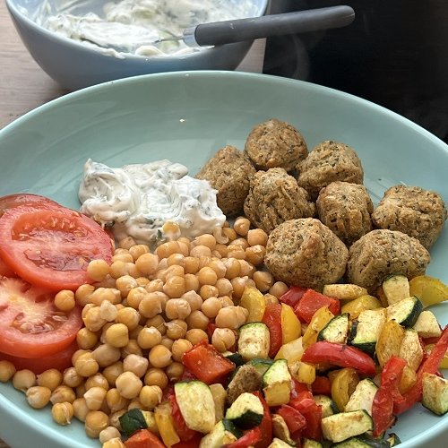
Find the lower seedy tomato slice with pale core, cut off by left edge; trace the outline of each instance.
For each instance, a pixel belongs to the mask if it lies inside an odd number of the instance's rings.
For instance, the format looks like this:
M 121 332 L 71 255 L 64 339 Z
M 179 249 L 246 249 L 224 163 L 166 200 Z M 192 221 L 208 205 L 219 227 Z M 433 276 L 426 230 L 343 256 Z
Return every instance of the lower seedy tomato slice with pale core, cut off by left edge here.
M 54 294 L 22 279 L 0 278 L 0 352 L 42 358 L 66 349 L 82 326 L 81 309 L 64 313 Z

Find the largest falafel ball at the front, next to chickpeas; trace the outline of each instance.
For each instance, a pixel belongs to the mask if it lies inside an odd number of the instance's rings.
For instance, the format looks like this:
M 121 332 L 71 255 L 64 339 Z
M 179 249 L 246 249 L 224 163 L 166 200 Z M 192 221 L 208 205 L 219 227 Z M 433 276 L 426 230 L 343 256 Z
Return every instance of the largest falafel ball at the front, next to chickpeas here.
M 349 250 L 320 220 L 288 220 L 268 238 L 264 263 L 289 285 L 321 288 L 344 275 Z

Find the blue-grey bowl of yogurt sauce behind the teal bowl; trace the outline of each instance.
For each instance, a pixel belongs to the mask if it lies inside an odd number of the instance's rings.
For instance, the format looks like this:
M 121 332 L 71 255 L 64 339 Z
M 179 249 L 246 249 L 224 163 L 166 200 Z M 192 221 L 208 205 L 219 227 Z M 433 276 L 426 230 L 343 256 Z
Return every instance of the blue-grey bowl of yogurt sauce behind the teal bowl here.
M 229 0 L 235 1 L 237 0 Z M 254 16 L 265 13 L 268 0 L 251 0 Z M 179 56 L 108 56 L 62 34 L 47 30 L 35 22 L 39 0 L 6 0 L 9 13 L 23 43 L 40 67 L 63 88 L 83 87 L 139 74 L 177 72 L 182 70 L 233 70 L 243 60 L 252 41 L 202 48 L 201 51 Z M 59 11 L 65 0 L 48 0 Z M 105 0 L 73 1 L 80 6 L 77 13 L 100 13 Z

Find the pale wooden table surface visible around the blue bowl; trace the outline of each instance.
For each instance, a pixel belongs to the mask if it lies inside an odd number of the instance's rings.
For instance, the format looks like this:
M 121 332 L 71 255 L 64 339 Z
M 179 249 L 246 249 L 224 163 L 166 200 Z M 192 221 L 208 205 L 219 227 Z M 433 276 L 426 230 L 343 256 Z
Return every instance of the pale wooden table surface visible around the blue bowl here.
M 0 129 L 18 116 L 67 93 L 32 59 L 0 0 Z M 264 40 L 254 42 L 237 70 L 262 72 Z

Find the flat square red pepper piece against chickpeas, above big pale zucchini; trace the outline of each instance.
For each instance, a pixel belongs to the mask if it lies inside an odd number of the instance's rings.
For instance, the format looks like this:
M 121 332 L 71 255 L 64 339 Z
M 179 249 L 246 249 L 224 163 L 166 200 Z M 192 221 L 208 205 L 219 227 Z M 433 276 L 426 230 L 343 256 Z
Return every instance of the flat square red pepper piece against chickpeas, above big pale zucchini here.
M 201 340 L 182 356 L 184 366 L 206 384 L 221 383 L 236 368 L 206 340 Z

